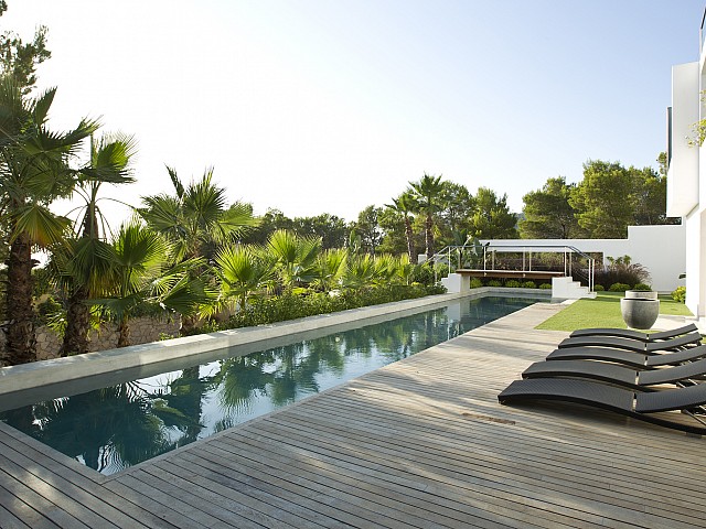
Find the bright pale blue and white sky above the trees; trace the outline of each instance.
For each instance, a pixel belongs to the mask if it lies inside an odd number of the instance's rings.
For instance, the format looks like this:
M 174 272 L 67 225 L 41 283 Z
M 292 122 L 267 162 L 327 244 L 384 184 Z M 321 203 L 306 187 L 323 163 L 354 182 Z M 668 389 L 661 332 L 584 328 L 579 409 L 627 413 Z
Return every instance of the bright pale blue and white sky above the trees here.
M 9 0 L 49 28 L 51 127 L 133 134 L 133 206 L 207 168 L 228 201 L 355 220 L 425 173 L 513 212 L 588 160 L 656 169 L 705 0 Z M 69 204 L 57 213 L 67 213 Z M 113 223 L 128 208 L 103 202 Z

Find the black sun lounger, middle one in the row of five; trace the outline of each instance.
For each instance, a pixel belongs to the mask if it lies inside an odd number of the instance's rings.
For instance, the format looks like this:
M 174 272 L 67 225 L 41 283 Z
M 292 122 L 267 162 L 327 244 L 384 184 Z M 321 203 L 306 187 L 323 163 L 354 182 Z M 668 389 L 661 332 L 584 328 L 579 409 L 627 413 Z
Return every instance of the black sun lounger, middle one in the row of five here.
M 706 358 L 706 345 L 697 345 L 688 349 L 648 355 L 631 350 L 611 349 L 608 347 L 566 347 L 555 349 L 547 355 L 547 360 L 602 360 L 623 364 L 638 369 L 655 369 L 662 366 L 676 366 L 685 361 Z

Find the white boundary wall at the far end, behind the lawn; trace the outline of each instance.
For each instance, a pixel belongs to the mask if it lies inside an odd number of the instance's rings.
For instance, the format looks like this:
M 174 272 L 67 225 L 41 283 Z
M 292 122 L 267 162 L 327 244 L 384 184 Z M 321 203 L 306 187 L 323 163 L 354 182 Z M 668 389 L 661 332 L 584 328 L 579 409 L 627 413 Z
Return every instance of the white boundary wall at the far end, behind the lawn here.
M 672 292 L 684 280 L 681 273 L 686 271 L 686 229 L 685 226 L 628 226 L 627 239 L 502 239 L 482 240 L 491 247 L 536 247 L 573 246 L 586 253 L 602 252 L 603 257 L 630 256 L 631 262 L 642 264 L 650 272 L 652 289 Z M 533 251 L 542 251 L 534 248 Z M 687 276 L 688 277 L 688 276 Z M 688 289 L 687 289 L 688 292 Z

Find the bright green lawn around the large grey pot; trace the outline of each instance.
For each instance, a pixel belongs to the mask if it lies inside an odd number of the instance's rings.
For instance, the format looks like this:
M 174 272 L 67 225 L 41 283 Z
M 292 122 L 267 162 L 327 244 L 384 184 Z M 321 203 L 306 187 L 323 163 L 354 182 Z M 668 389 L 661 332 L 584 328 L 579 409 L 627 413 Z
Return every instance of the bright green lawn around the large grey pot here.
M 620 314 L 622 292 L 598 292 L 595 300 L 581 299 L 537 325 L 544 331 L 576 331 L 587 327 L 628 328 Z M 660 295 L 660 314 L 691 316 L 684 303 L 674 301 L 668 294 Z

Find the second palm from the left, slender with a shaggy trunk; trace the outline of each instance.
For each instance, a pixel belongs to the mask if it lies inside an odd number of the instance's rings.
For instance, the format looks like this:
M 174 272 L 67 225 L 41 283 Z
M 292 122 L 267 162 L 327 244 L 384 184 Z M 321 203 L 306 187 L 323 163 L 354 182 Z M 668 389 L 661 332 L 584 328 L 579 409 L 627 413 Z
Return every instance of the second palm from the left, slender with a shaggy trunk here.
M 76 227 L 78 238 L 68 247 L 67 273 L 63 274 L 68 306 L 62 356 L 88 352 L 88 299 L 103 295 L 105 280 L 109 276 L 109 263 L 100 259 L 100 255 L 105 253 L 100 247 L 106 245 L 109 227 L 98 206 L 98 192 L 106 183 L 117 185 L 135 182 L 129 169 L 135 151 L 136 142 L 131 137 L 106 134 L 97 141 L 90 137 L 90 159 L 78 174 L 76 188 L 84 201 Z

